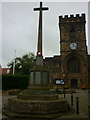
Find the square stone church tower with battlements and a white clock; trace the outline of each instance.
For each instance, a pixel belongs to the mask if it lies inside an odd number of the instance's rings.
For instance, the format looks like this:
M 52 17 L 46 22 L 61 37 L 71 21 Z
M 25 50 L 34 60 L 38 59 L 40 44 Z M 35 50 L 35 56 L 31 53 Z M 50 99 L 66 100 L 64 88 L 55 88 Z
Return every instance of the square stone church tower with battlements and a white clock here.
M 59 16 L 61 78 L 66 88 L 88 87 L 85 14 Z

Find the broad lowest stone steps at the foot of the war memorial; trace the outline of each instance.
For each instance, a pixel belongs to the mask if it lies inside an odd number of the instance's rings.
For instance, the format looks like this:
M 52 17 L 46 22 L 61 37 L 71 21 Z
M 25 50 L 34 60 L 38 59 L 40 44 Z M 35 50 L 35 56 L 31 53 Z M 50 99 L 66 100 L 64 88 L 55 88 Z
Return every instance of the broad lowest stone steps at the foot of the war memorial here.
M 20 98 L 19 98 L 20 97 Z M 54 118 L 69 110 L 65 99 L 58 95 L 18 96 L 8 100 L 3 113 L 8 118 Z

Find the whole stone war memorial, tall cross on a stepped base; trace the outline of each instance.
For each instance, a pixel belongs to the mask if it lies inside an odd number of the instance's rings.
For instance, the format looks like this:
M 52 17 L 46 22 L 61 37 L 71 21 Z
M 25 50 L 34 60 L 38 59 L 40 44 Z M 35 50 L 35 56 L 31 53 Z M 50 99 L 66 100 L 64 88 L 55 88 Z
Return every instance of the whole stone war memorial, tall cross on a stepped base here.
M 62 112 L 69 111 L 67 101 L 59 99 L 55 91 L 50 91 L 48 69 L 43 66 L 42 53 L 42 11 L 47 7 L 34 8 L 39 11 L 38 48 L 36 65 L 30 70 L 29 86 L 16 98 L 8 100 L 3 113 L 8 118 L 56 118 Z

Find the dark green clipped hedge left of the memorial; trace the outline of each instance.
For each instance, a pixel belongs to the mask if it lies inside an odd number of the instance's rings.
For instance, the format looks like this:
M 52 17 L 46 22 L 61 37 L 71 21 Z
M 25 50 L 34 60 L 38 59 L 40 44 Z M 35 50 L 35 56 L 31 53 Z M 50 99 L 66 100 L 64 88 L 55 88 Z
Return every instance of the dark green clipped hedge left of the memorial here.
M 2 75 L 2 89 L 26 89 L 29 75 Z

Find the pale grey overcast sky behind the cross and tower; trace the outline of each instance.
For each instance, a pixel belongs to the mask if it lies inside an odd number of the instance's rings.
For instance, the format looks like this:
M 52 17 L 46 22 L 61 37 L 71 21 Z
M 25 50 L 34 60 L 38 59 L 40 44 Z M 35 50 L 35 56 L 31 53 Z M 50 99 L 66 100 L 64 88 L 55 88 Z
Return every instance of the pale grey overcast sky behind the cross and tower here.
M 29 52 L 36 54 L 38 12 L 33 11 L 33 8 L 38 6 L 39 2 L 2 3 L 3 67 L 13 60 L 15 50 L 17 57 Z M 58 17 L 86 13 L 88 23 L 88 2 L 44 2 L 43 6 L 49 7 L 48 11 L 43 12 L 43 55 L 44 57 L 60 55 Z M 88 28 L 87 23 L 86 29 Z

